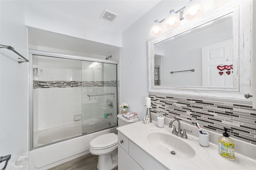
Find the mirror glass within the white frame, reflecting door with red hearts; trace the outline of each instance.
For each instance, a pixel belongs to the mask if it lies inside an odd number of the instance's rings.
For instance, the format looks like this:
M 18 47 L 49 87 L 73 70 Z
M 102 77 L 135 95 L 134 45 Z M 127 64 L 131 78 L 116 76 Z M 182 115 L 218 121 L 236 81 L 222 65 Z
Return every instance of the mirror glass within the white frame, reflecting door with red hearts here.
M 154 44 L 154 85 L 233 88 L 235 69 L 233 13 Z

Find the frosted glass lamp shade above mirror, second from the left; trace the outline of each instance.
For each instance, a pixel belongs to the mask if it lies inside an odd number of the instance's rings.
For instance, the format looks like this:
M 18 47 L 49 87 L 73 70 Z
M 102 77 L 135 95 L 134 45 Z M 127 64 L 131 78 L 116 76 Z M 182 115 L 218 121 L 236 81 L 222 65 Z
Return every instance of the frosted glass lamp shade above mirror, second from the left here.
M 174 12 L 174 10 L 170 10 L 170 14 L 164 20 L 164 27 L 168 30 L 172 30 L 180 26 L 180 17 Z

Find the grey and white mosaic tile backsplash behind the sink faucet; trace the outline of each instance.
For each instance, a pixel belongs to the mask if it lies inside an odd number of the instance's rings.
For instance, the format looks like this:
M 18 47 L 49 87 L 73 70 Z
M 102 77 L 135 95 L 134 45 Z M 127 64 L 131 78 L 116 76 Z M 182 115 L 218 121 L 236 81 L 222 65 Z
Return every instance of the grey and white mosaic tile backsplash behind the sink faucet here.
M 149 93 L 149 97 L 152 113 L 162 112 L 164 117 L 177 118 L 190 125 L 198 121 L 202 128 L 219 134 L 226 127 L 231 138 L 256 144 L 256 109 L 251 105 L 154 93 Z

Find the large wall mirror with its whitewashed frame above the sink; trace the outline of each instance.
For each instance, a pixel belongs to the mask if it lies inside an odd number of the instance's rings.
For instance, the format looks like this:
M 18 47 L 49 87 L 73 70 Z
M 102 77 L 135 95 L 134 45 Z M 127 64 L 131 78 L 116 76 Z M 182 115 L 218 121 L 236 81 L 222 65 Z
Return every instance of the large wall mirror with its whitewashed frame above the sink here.
M 235 5 L 215 8 L 193 22 L 182 20 L 181 26 L 149 39 L 149 92 L 219 97 L 225 91 L 224 98 L 244 99 L 241 93 L 250 91 L 246 83 L 251 76 L 250 67 L 246 68 L 250 61 L 243 58 L 248 49 L 243 46 L 244 40 L 240 41 L 241 32 L 250 27 L 250 22 L 241 25 L 245 15 L 239 14 Z M 248 74 L 244 74 L 246 71 Z

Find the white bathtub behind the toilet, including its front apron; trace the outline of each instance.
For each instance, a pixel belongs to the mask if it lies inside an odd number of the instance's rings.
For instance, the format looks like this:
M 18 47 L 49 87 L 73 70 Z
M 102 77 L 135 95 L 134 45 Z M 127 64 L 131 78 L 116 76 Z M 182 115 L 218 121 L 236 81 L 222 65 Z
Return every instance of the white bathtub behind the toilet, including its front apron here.
M 93 119 L 82 123 L 82 128 L 87 129 L 88 132 L 90 132 L 94 130 L 96 126 L 107 128 L 113 125 L 114 124 L 108 119 Z M 76 134 L 73 134 L 73 132 L 76 132 Z M 34 147 L 49 144 L 51 142 L 55 143 L 31 150 L 28 154 L 28 169 L 45 170 L 74 158 L 78 158 L 84 154 L 88 154 L 90 153 L 90 141 L 93 138 L 101 134 L 111 132 L 117 133 L 116 127 L 92 132 L 86 135 L 81 135 L 81 132 L 81 123 L 34 132 L 34 139 L 36 141 L 34 142 Z M 77 137 L 72 138 L 74 136 Z M 63 139 L 67 140 L 56 142 Z

